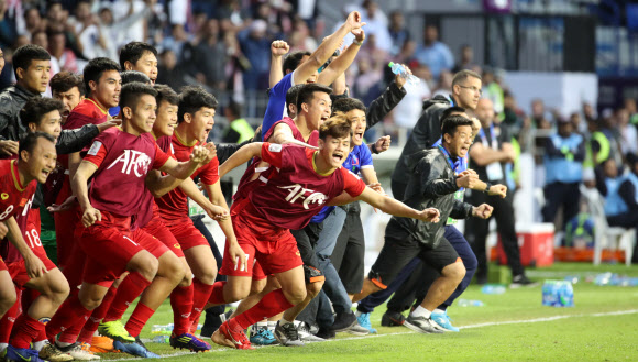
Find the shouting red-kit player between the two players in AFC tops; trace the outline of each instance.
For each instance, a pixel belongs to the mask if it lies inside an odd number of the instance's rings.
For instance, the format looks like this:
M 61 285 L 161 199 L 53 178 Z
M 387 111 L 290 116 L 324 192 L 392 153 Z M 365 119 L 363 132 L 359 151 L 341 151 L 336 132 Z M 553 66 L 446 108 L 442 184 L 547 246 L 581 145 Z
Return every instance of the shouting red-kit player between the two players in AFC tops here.
M 200 87 L 187 87 L 179 96 L 178 125 L 172 138 L 172 143 L 166 147 L 173 147 L 178 161 L 187 160 L 197 144 L 206 142 L 208 133 L 215 124 L 217 100 Z M 228 209 L 218 174 L 219 162 L 217 157 L 197 169 L 193 177 L 199 176 L 206 191 L 213 205 Z M 164 195 L 157 199 L 164 222 L 170 232 L 179 241 L 184 255 L 188 261 L 195 277 L 193 279 L 193 309 L 190 320 L 195 325 L 210 298 L 217 276 L 215 256 L 208 241 L 193 224 L 188 216 L 186 194 L 180 188 Z M 227 237 L 227 252 L 232 261 L 243 264 L 245 255 L 237 242 L 230 219 L 219 220 L 219 224 Z M 222 282 L 218 282 L 222 283 Z M 177 334 L 172 336 L 173 338 Z M 172 341 L 172 344 L 174 342 Z

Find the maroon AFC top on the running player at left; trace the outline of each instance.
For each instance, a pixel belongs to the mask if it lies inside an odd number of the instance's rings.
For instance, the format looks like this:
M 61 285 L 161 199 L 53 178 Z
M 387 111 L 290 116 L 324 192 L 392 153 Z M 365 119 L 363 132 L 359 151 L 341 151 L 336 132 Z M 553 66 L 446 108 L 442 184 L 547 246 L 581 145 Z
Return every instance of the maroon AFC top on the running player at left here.
M 140 213 L 148 193 L 144 180 L 148 169 L 162 167 L 168 155 L 150 133 L 139 136 L 118 128 L 110 128 L 94 140 L 84 158 L 98 167 L 89 199 L 98 210 L 131 217 Z

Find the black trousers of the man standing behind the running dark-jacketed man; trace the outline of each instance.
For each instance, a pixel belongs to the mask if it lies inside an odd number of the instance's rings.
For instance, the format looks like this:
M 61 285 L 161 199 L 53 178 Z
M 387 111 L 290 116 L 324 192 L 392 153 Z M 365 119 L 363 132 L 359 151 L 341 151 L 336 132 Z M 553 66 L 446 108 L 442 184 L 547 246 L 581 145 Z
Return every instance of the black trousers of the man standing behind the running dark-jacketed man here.
M 512 270 L 512 275 L 517 276 L 524 274 L 522 265 L 520 264 L 520 251 L 518 250 L 518 239 L 516 230 L 514 229 L 514 207 L 513 196 L 507 193 L 505 198 L 488 196 L 481 191 L 472 191 L 470 197 L 466 197 L 466 202 L 474 206 L 481 204 L 488 204 L 494 207 L 492 217 L 487 220 L 480 218 L 469 218 L 465 221 L 465 239 L 476 255 L 479 267 L 476 268 L 477 277 L 487 276 L 487 253 L 485 250 L 485 241 L 487 239 L 490 220 L 496 219 L 496 230 L 501 234 L 503 250 L 507 255 L 507 264 Z

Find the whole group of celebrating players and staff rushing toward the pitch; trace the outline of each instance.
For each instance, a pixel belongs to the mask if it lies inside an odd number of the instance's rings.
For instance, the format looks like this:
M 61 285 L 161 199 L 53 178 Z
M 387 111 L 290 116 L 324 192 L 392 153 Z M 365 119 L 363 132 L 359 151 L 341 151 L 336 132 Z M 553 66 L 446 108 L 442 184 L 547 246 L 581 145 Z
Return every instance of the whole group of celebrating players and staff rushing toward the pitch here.
M 344 72 L 365 41 L 364 25 L 350 13 L 314 53 L 273 42 L 263 123 L 233 144 L 207 141 L 221 108 L 215 96 L 155 84 L 157 51 L 146 43 L 127 44 L 119 63 L 98 57 L 82 75 L 51 79 L 44 48 L 18 48 L 14 88 L 31 96 L 0 95 L 8 105 L 0 109 L 2 356 L 88 361 L 119 350 L 157 358 L 140 333 L 166 298 L 170 345 L 194 352 L 210 350 L 210 341 L 253 349 L 375 333 L 370 311 L 354 312 L 352 304 L 396 290 L 413 260 L 436 275 L 424 276 L 422 295 L 397 323 L 458 331 L 446 309 L 476 259 L 452 220 L 492 215 L 487 204 L 463 202 L 464 189 L 507 193 L 468 167 L 481 130 L 469 117 L 481 77 L 460 72 L 450 101 L 424 112 L 388 196 L 372 154 L 391 138 L 365 144 L 363 134 L 403 99 L 406 77 L 397 75 L 367 107 L 349 97 Z M 350 33 L 352 44 L 336 53 Z M 53 97 L 41 97 L 47 88 Z M 220 178 L 245 164 L 229 208 Z M 367 275 L 359 201 L 393 216 Z M 189 202 L 219 223 L 223 251 Z M 53 231 L 50 259 L 41 235 Z

